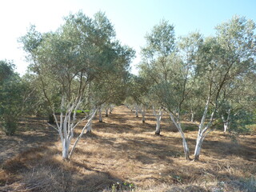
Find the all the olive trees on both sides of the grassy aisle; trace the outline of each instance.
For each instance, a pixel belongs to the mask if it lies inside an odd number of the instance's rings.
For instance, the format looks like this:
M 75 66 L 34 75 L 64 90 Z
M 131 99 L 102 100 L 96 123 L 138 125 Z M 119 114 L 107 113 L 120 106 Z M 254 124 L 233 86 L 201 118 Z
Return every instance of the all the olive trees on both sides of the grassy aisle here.
M 253 21 L 234 17 L 217 26 L 214 37 L 192 33 L 176 39 L 174 26 L 162 21 L 146 34 L 135 76 L 129 72 L 134 50 L 118 42 L 101 12 L 94 18 L 70 14 L 55 32 L 41 34 L 30 26 L 19 39 L 30 62 L 28 73 L 20 78 L 12 63 L 0 63 L 2 125 L 14 134 L 18 117 L 49 114 L 62 142 L 62 158 L 68 159 L 82 134 L 90 131 L 97 111 L 101 117 L 103 106 L 107 110 L 110 103 L 126 100 L 142 113 L 143 122 L 146 108 L 152 107 L 156 134 L 166 110 L 181 134 L 187 159 L 190 148 L 181 122 L 188 114 L 200 122 L 194 150 L 198 160 L 216 120 L 229 130 L 255 116 L 254 30 Z M 85 118 L 77 119 L 78 110 L 86 110 Z M 81 134 L 72 144 L 80 124 Z

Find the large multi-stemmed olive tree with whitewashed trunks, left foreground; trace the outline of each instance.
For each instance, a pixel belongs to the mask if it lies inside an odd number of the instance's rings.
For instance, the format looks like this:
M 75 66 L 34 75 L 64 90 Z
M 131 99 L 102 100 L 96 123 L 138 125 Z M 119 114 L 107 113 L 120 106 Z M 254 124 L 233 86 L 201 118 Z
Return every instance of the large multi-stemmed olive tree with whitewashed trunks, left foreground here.
M 70 14 L 56 32 L 41 34 L 32 26 L 21 38 L 27 58 L 31 62 L 30 69 L 36 74 L 54 114 L 57 126 L 54 128 L 61 138 L 63 159 L 71 157 L 74 147 L 101 104 L 97 99 L 91 98 L 90 86 L 97 79 L 103 78 L 102 74 L 113 70 L 114 65 L 120 64 L 114 62 L 119 58 L 119 53 L 109 55 L 118 45 L 114 38 L 114 28 L 101 12 L 95 14 L 94 18 L 89 18 L 82 12 Z M 129 53 L 127 55 L 130 58 Z M 130 59 L 123 62 L 129 65 L 127 62 Z M 53 102 L 49 96 L 51 92 L 60 95 L 58 107 L 54 103 L 56 101 Z M 70 149 L 74 129 L 86 120 L 76 119 L 76 111 L 85 101 L 90 102 L 90 110 L 94 113 L 90 114 Z M 56 112 L 60 113 L 59 117 Z

